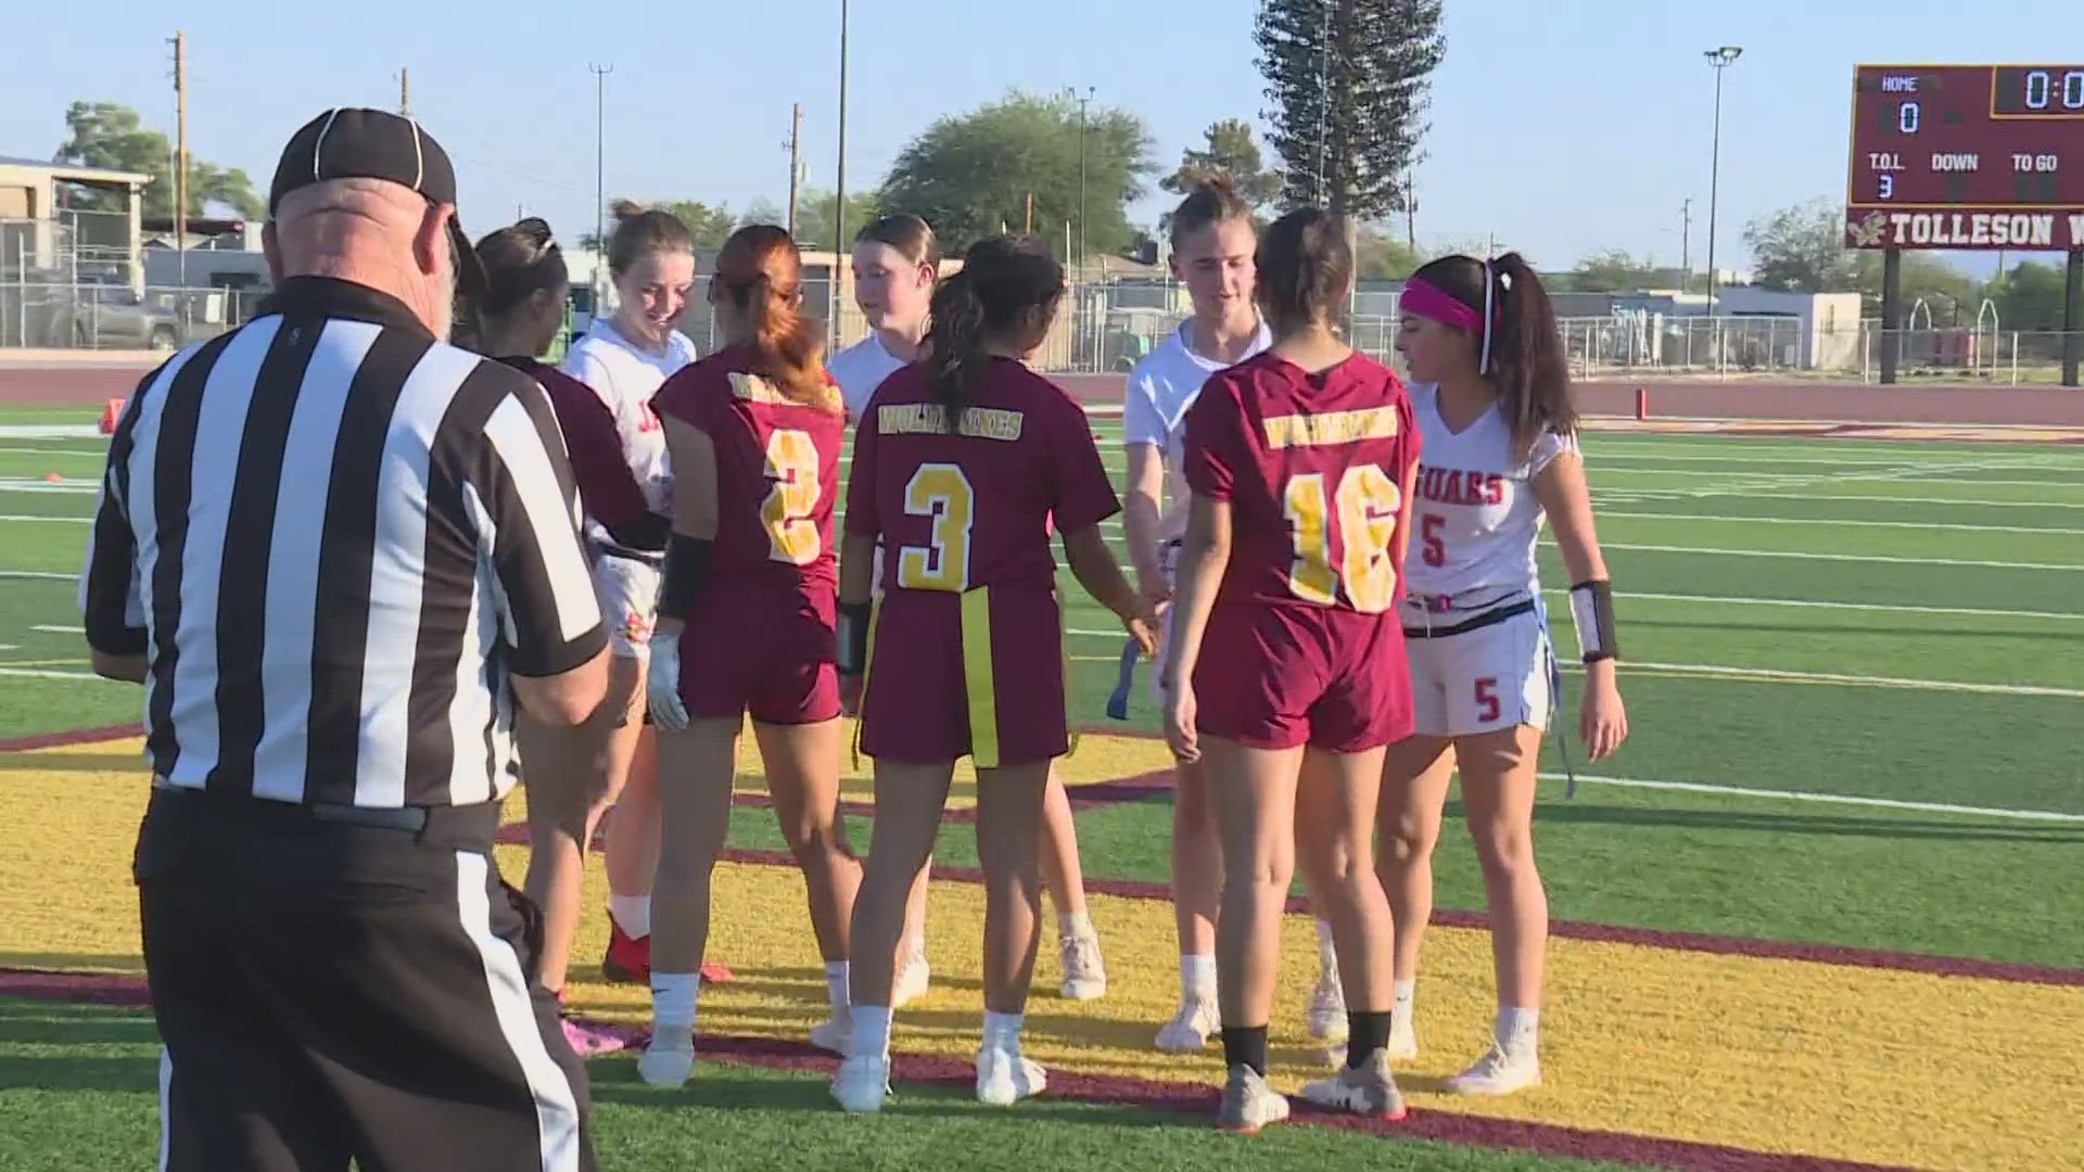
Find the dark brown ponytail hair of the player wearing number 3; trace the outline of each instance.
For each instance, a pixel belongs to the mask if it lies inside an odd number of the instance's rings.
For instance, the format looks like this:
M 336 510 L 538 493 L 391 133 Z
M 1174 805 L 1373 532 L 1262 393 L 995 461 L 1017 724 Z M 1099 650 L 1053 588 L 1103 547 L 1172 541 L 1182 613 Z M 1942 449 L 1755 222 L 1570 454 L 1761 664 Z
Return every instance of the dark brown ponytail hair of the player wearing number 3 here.
M 992 342 L 1009 329 L 1046 329 L 1063 296 L 1063 265 L 1034 236 L 992 236 L 969 246 L 963 269 L 934 290 L 925 332 L 927 380 L 954 434 L 984 388 Z

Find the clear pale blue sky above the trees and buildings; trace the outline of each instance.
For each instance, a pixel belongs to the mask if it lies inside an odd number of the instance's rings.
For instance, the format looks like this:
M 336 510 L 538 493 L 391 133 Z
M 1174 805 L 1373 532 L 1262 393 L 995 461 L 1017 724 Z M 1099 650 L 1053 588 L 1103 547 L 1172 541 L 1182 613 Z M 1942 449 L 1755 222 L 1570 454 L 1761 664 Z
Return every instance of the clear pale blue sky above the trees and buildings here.
M 296 8 L 296 15 L 290 15 Z M 267 184 L 281 142 L 327 104 L 396 102 L 456 156 L 465 223 L 517 206 L 567 236 L 594 219 L 594 79 L 606 88 L 609 194 L 782 200 L 790 102 L 804 104 L 811 181 L 836 158 L 838 0 L 756 4 L 210 4 L 181 17 L 190 150 Z M 982 0 L 854 0 L 848 186 L 882 177 L 932 119 L 1007 86 L 1096 86 L 1142 115 L 1167 169 L 1200 129 L 1265 104 L 1252 0 L 1055 0 L 1004 31 Z M 173 129 L 171 8 L 135 0 L 29 4 L 0 44 L 0 154 L 46 156 L 73 98 L 135 106 Z M 627 15 L 625 15 L 627 13 Z M 636 15 L 636 13 L 661 13 Z M 667 15 L 669 13 L 669 15 Z M 1844 196 L 1849 83 L 1863 60 L 2036 60 L 2069 48 L 2078 0 L 1446 0 L 1419 236 L 1517 246 L 1544 267 L 1619 246 L 1676 263 L 1694 198 L 1703 265 L 1713 71 L 1744 46 L 1723 94 L 1721 252 L 1742 223 Z M 29 25 L 23 29 L 23 25 Z M 2065 27 L 2067 33 L 2065 35 Z M 1155 221 L 1159 200 L 1136 219 Z

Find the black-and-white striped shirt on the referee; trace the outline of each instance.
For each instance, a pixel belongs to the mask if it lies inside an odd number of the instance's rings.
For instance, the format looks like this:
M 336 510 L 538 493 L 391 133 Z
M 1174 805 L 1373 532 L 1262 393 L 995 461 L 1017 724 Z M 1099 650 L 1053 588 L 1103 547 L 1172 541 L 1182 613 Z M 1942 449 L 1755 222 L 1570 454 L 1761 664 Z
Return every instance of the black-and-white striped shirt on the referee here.
M 290 277 L 146 375 L 108 446 L 88 642 L 148 657 L 163 784 L 358 807 L 515 780 L 508 674 L 604 644 L 556 417 L 377 290 Z

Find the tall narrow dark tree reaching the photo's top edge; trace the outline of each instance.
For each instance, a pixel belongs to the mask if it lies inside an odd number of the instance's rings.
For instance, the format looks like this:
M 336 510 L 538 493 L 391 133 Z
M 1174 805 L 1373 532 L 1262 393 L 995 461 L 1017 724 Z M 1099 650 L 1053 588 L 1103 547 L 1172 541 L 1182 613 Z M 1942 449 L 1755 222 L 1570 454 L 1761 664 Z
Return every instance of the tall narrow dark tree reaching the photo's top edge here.
M 1252 33 L 1288 204 L 1403 211 L 1446 56 L 1440 0 L 1263 0 Z

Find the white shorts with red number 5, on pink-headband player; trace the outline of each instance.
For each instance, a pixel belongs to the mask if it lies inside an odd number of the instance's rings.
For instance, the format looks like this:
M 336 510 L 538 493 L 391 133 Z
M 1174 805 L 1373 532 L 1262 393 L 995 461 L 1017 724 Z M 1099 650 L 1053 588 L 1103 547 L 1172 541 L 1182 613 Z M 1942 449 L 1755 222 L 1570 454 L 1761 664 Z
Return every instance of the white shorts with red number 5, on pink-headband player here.
M 1500 728 L 1548 728 L 1548 630 L 1540 611 L 1442 638 L 1417 638 L 1417 611 L 1405 607 L 1405 657 L 1411 661 L 1411 713 L 1421 736 L 1473 736 Z M 1434 617 L 1434 626 L 1467 619 Z

